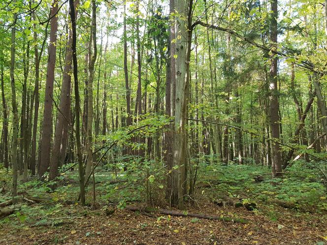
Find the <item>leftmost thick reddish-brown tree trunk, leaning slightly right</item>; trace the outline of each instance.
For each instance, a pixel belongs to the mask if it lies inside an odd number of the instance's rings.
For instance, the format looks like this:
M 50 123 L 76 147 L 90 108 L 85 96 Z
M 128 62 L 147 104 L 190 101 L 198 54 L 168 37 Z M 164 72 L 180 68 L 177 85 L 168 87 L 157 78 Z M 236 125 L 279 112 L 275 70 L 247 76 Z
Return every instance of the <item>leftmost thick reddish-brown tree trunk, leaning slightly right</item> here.
M 47 69 L 47 79 L 44 98 L 44 113 L 42 123 L 42 139 L 40 152 L 40 166 L 38 176 L 42 178 L 44 173 L 48 170 L 50 164 L 50 145 L 51 145 L 51 129 L 52 129 L 52 99 L 53 99 L 53 82 L 55 79 L 55 65 L 56 65 L 56 42 L 58 30 L 58 1 L 54 0 L 51 6 L 50 20 L 50 44 L 49 44 L 49 59 Z

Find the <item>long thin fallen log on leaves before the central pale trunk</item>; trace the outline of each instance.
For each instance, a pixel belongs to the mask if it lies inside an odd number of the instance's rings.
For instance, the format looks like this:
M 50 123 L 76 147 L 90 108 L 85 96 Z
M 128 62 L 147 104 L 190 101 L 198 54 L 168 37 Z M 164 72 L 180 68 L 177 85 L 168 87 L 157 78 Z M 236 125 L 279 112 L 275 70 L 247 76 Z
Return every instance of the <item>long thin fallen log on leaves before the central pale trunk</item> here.
M 168 209 L 155 209 L 155 208 L 142 208 L 137 206 L 127 205 L 125 209 L 130 211 L 138 211 L 140 213 L 156 213 L 156 214 L 164 214 L 164 215 L 172 215 L 172 216 L 181 216 L 181 217 L 195 217 L 195 218 L 203 218 L 203 219 L 213 219 L 213 220 L 221 220 L 223 222 L 235 222 L 235 223 L 242 223 L 248 224 L 249 220 L 243 218 L 230 218 L 224 216 L 215 216 L 215 215 L 208 215 L 208 214 L 195 214 L 189 213 L 187 211 L 178 211 L 178 210 L 168 210 Z

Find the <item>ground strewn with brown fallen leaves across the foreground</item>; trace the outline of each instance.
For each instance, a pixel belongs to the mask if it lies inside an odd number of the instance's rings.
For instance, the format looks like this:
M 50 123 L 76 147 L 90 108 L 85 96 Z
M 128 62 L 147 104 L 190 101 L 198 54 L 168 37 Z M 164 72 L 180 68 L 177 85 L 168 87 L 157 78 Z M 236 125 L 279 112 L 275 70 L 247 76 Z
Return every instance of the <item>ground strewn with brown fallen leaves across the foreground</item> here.
M 14 227 L 10 222 L 2 224 L 1 245 L 292 245 L 327 244 L 327 218 L 319 214 L 298 214 L 278 208 L 277 221 L 266 215 L 256 214 L 243 208 L 217 207 L 207 204 L 201 209 L 189 209 L 193 213 L 240 217 L 249 224 L 196 219 L 192 217 L 147 216 L 128 210 L 91 210 L 75 205 L 66 216 L 56 213 L 57 225 L 33 226 L 26 223 Z M 42 219 L 42 217 L 39 217 Z M 35 220 L 33 221 L 35 225 Z M 62 222 L 62 223 L 61 223 Z M 55 224 L 56 222 L 53 222 Z M 11 224 L 11 223 L 10 223 Z

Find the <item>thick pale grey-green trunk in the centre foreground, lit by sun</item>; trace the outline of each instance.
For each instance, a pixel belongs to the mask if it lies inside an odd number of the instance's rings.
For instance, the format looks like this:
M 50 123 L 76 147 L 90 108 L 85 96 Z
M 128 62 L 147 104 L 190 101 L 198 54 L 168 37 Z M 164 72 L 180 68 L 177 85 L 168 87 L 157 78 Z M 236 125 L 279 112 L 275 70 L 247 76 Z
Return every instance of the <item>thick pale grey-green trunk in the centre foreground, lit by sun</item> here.
M 173 144 L 173 165 L 177 165 L 177 196 L 178 207 L 183 209 L 183 195 L 187 155 L 186 155 L 186 120 L 188 103 L 189 82 L 189 58 L 191 53 L 192 28 L 190 25 L 193 0 L 175 0 L 175 10 L 179 14 L 175 16 L 175 33 L 179 33 L 176 40 L 175 55 L 175 130 Z M 180 38 L 179 38 L 180 37 Z

